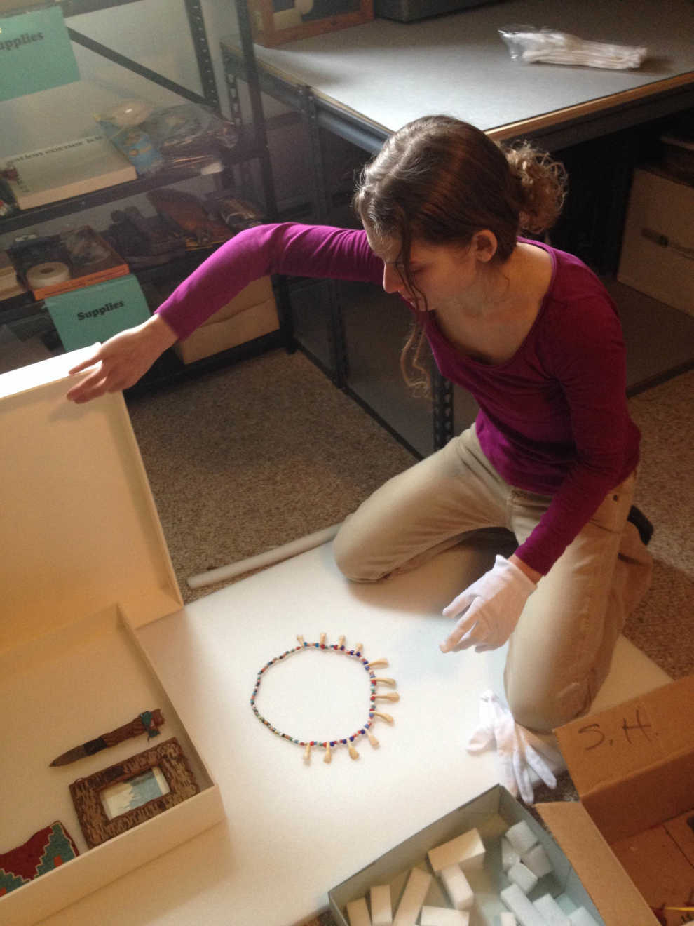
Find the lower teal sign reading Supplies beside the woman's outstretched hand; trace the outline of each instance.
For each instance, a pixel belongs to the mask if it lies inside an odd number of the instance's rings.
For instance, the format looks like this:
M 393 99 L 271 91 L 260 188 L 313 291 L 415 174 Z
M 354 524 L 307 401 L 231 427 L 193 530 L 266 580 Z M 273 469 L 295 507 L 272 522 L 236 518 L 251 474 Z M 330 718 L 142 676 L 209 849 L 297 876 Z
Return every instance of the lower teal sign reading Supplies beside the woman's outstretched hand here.
M 47 296 L 44 301 L 68 351 L 107 341 L 150 317 L 140 283 L 132 274 Z

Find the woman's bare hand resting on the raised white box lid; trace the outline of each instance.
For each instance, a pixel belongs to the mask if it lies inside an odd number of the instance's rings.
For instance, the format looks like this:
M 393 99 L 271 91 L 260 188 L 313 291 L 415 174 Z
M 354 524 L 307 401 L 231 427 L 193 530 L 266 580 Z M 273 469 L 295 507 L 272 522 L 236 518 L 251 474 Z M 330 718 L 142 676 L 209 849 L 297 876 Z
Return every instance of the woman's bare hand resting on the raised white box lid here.
M 105 393 L 117 393 L 137 382 L 167 347 L 178 340 L 167 322 L 158 315 L 109 338 L 92 357 L 70 369 L 70 374 L 90 370 L 68 392 L 68 399 L 81 405 Z

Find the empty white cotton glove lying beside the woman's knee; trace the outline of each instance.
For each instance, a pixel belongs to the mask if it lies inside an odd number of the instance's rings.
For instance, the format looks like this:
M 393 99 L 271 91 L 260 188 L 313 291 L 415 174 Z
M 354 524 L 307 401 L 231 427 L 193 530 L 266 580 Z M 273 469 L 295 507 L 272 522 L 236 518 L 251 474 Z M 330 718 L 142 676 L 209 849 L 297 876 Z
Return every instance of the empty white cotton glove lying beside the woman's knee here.
M 564 758 L 558 749 L 516 723 L 509 707 L 492 691 L 479 697 L 479 726 L 467 741 L 467 751 L 484 752 L 496 745 L 500 778 L 514 797 L 520 795 L 532 804 L 533 772 L 548 788 L 555 788 L 555 771 L 564 770 Z

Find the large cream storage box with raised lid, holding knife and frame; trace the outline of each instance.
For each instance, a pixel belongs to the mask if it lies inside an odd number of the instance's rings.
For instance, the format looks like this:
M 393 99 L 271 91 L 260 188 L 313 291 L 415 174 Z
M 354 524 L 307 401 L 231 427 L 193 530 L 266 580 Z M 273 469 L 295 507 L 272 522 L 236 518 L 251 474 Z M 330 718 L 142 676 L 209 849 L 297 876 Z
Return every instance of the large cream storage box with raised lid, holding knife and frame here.
M 218 786 L 137 639 L 138 627 L 181 599 L 122 395 L 85 406 L 65 399 L 68 369 L 92 350 L 0 376 L 0 852 L 54 820 L 81 852 L 0 896 L 3 926 L 43 920 L 224 816 Z M 50 767 L 156 707 L 165 718 L 158 738 Z M 198 793 L 87 849 L 69 784 L 170 737 Z

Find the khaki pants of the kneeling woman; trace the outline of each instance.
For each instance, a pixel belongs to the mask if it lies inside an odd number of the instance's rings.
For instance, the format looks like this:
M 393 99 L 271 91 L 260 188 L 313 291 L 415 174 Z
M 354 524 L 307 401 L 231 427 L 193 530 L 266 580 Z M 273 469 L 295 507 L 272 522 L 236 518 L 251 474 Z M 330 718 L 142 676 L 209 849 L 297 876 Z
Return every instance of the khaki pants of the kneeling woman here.
M 506 698 L 530 729 L 549 731 L 589 709 L 626 616 L 648 589 L 651 557 L 626 520 L 635 481 L 632 474 L 605 496 L 540 580 L 511 635 Z M 455 544 L 489 544 L 490 529 L 509 556 L 550 503 L 550 495 L 503 481 L 473 425 L 366 499 L 335 538 L 335 558 L 347 578 L 376 582 Z

